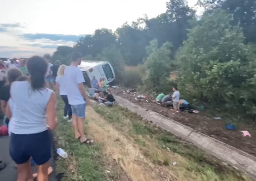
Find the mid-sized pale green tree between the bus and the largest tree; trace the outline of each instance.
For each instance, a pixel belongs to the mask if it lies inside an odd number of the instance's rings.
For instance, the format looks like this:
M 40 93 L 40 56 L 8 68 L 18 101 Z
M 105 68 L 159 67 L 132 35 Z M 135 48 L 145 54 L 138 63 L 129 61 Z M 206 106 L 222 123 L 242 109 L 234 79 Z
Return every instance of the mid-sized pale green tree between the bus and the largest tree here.
M 172 59 L 172 44 L 165 42 L 162 47 L 158 48 L 157 40 L 151 40 L 150 45 L 146 47 L 148 57 L 144 64 L 147 68 L 146 75 L 143 77 L 143 83 L 148 90 L 165 91 L 163 85 L 168 82 Z

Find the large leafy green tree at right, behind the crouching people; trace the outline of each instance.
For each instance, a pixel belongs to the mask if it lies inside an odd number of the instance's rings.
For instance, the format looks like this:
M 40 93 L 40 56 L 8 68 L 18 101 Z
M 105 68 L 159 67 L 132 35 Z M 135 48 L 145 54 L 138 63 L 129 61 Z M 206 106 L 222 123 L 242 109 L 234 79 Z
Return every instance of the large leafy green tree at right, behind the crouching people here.
M 230 14 L 216 9 L 205 13 L 199 25 L 189 31 L 177 54 L 178 85 L 191 99 L 225 104 L 230 110 L 251 110 L 246 105 L 251 105 L 247 101 L 252 99 L 245 95 L 252 93 L 247 86 L 254 80 L 256 69 L 249 68 L 254 56 L 244 44 L 242 29 L 231 26 L 232 20 Z

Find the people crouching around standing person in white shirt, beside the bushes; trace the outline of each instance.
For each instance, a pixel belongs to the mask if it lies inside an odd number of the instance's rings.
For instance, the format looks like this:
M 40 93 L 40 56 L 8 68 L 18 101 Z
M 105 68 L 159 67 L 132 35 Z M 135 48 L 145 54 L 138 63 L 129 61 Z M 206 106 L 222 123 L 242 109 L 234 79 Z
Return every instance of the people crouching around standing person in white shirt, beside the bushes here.
M 185 99 L 180 99 L 180 92 L 177 87 L 173 87 L 172 95 L 166 95 L 165 93 L 158 94 L 156 102 L 159 105 L 172 106 L 174 111 L 173 114 L 179 113 L 180 110 L 189 110 L 191 106 Z

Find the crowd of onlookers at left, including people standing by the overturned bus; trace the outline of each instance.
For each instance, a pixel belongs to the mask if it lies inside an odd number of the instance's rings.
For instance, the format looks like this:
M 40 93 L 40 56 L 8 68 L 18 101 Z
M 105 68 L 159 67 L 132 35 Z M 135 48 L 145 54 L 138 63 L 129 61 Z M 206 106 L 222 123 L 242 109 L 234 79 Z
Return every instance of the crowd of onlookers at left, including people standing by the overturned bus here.
M 89 104 L 84 88 L 84 76 L 77 68 L 82 61 L 80 53 L 72 54 L 69 66 L 50 63 L 50 56 L 33 56 L 28 60 L 6 65 L 0 61 L 0 105 L 4 123 L 10 135 L 10 156 L 17 165 L 18 181 L 47 181 L 52 172 L 51 131 L 57 127 L 55 90 L 63 102 L 64 119 L 72 121 L 74 138 L 80 143 L 94 141 L 84 134 L 85 109 Z M 107 96 L 104 79 L 92 85 Z M 30 162 L 37 165 L 32 175 Z M 34 177 L 33 177 L 34 176 Z

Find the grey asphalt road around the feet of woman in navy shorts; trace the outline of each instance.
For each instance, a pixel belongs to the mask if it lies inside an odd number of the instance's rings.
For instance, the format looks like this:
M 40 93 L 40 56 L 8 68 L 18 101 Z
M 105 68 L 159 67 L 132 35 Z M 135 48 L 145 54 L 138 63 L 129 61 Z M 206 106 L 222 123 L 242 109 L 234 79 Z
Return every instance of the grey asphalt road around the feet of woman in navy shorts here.
M 0 126 L 3 125 L 3 120 L 0 119 Z M 16 181 L 17 180 L 17 169 L 15 168 L 15 163 L 9 155 L 9 136 L 0 136 L 0 160 L 6 163 L 6 167 L 0 170 L 0 181 Z M 53 155 L 53 154 L 52 154 Z M 50 164 L 53 167 L 53 173 L 50 176 L 50 181 L 56 181 L 55 179 L 55 165 L 53 160 L 50 160 Z M 36 168 L 33 168 L 36 171 Z

